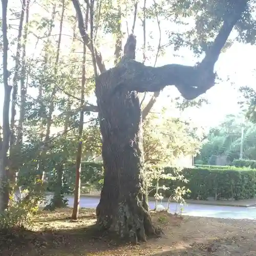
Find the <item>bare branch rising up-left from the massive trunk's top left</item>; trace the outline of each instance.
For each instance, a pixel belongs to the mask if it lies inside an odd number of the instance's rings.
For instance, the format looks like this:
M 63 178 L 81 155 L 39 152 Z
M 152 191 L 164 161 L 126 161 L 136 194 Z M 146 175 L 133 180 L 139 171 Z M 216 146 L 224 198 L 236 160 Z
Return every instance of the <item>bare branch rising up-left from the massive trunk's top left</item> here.
M 91 38 L 86 32 L 80 4 L 79 4 L 78 0 L 72 0 L 72 3 L 76 10 L 77 19 L 78 19 L 78 28 L 79 28 L 81 37 L 84 41 L 84 44 L 86 44 L 86 46 L 92 52 L 92 54 L 93 53 L 95 54 L 95 59 L 96 59 L 96 63 L 99 68 L 99 71 L 100 71 L 100 73 L 103 73 L 106 71 L 106 68 L 105 68 L 104 62 L 102 60 L 101 53 L 99 51 L 97 51 L 97 49 L 95 47 L 92 48 L 93 42 L 91 42 Z

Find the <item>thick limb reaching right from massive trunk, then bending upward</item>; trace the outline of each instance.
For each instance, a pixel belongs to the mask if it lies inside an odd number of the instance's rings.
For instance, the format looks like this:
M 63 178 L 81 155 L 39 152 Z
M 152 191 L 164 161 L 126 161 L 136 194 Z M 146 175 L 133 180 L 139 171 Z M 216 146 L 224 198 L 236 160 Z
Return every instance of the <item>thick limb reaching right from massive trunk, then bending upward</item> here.
M 146 67 L 142 63 L 132 59 L 125 59 L 121 60 L 115 68 L 101 74 L 98 79 L 111 79 L 111 83 L 115 86 L 112 90 L 113 93 L 120 90 L 158 92 L 166 86 L 173 85 L 185 99 L 195 99 L 215 85 L 215 63 L 231 30 L 245 10 L 247 1 L 243 1 L 243 3 L 243 8 L 239 4 L 239 8 L 241 9 L 235 11 L 232 18 L 224 20 L 214 43 L 206 52 L 202 62 L 198 65 L 191 67 L 170 64 L 153 68 Z M 96 84 L 98 79 L 96 79 Z

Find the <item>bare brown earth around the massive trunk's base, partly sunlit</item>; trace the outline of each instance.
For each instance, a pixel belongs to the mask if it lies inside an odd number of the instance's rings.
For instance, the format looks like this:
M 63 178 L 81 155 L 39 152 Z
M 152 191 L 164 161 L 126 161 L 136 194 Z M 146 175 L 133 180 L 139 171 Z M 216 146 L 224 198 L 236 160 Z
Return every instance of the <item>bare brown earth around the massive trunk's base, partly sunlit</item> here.
M 152 213 L 161 226 L 162 238 L 138 245 L 117 244 L 93 235 L 93 210 L 81 209 L 77 221 L 71 221 L 71 209 L 42 211 L 33 221 L 32 231 L 16 232 L 7 237 L 0 233 L 3 256 L 194 256 L 256 255 L 255 224 L 251 220 L 180 218 L 164 212 Z

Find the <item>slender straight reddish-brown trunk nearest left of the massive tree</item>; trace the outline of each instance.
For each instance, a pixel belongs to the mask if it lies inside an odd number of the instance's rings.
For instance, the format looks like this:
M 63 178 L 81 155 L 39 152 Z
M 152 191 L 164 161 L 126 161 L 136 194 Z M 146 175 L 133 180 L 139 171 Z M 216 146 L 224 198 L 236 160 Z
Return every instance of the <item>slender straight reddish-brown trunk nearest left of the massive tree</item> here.
M 86 31 L 88 26 L 88 15 L 89 15 L 89 6 L 87 6 L 86 11 Z M 94 69 L 95 71 L 95 69 Z M 79 213 L 79 201 L 80 201 L 80 188 L 81 188 L 81 157 L 82 157 L 82 131 L 83 131 L 83 104 L 84 104 L 84 87 L 86 85 L 86 44 L 83 43 L 83 59 L 82 59 L 82 81 L 81 81 L 81 100 L 80 100 L 80 120 L 79 120 L 79 132 L 78 132 L 78 145 L 76 153 L 76 180 L 75 180 L 75 194 L 74 194 L 74 206 L 72 211 L 71 218 L 76 220 Z

